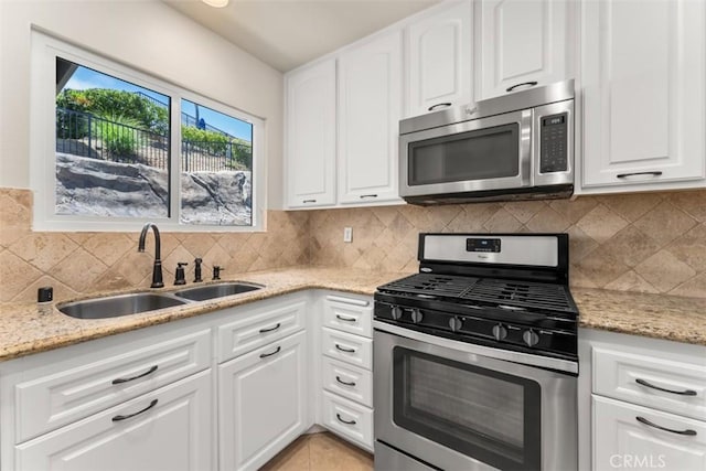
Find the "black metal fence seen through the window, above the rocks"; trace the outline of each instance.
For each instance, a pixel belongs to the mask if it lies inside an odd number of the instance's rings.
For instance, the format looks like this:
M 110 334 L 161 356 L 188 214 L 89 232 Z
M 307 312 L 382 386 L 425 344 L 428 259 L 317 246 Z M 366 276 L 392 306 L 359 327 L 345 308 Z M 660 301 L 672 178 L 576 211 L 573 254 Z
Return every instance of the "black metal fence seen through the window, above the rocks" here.
M 56 151 L 168 169 L 170 144 L 168 135 L 57 107 Z M 181 159 L 186 172 L 252 169 L 253 148 L 234 141 L 182 140 Z

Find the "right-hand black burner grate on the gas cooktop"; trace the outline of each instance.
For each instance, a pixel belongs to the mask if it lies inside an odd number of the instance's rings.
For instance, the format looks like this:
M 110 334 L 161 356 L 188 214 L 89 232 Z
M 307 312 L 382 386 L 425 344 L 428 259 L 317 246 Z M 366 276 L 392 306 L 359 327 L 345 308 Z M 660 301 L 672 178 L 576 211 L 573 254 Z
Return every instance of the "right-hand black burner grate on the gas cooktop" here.
M 494 302 L 533 310 L 577 312 L 567 288 L 563 285 L 484 278 L 464 292 L 461 299 Z

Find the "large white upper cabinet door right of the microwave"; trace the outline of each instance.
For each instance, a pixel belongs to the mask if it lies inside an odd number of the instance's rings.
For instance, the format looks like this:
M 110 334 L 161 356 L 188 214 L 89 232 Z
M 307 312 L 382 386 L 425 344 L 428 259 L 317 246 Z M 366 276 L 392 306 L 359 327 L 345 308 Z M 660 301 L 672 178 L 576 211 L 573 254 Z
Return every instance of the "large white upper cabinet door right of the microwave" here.
M 584 186 L 703 180 L 706 2 L 581 6 Z

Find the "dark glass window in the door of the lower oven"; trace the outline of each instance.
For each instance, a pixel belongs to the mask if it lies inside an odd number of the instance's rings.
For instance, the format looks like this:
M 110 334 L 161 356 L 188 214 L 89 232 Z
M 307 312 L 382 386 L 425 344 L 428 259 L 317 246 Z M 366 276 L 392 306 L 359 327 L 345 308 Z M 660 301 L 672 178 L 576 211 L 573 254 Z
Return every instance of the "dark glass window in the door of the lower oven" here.
M 399 346 L 393 358 L 397 426 L 501 470 L 539 470 L 536 382 Z

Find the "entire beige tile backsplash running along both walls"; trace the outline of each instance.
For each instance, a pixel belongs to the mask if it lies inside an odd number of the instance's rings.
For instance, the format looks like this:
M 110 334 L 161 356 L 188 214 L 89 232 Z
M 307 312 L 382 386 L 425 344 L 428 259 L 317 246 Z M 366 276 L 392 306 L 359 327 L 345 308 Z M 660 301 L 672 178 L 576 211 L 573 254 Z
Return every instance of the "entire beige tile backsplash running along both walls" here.
M 34 233 L 29 190 L 0 189 L 0 302 L 146 288 L 153 237 Z M 417 270 L 420 232 L 567 232 L 573 286 L 706 298 L 706 191 L 582 196 L 445 206 L 268 212 L 267 233 L 162 233 L 164 281 L 178 261 L 204 259 L 226 274 L 301 265 Z M 343 228 L 353 242 L 343 242 Z M 188 270 L 189 277 L 193 277 Z

